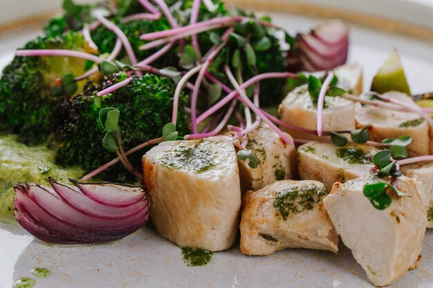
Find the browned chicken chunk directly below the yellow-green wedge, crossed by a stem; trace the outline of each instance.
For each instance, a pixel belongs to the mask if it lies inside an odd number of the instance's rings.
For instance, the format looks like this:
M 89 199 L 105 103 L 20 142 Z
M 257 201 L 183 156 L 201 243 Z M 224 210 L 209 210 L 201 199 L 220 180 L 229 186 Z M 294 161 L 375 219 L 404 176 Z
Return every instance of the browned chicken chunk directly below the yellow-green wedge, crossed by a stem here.
M 413 100 L 400 92 L 388 92 L 383 96 L 394 98 L 417 107 Z M 368 97 L 368 95 L 365 95 Z M 397 138 L 402 135 L 412 137 L 412 144 L 407 146 L 409 156 L 428 155 L 429 126 L 418 113 L 391 111 L 361 104 L 356 105 L 356 125 L 358 128 L 372 126 L 371 140 L 382 141 L 385 138 Z

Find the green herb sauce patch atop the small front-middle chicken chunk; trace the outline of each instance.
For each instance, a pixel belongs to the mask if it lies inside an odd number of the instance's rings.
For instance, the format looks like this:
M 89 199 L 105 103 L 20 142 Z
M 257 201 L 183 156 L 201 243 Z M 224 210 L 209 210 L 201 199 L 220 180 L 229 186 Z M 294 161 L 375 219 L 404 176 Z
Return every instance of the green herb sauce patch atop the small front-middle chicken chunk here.
M 313 209 L 324 196 L 326 196 L 325 189 L 314 184 L 293 186 L 277 191 L 273 207 L 286 220 L 289 215 Z

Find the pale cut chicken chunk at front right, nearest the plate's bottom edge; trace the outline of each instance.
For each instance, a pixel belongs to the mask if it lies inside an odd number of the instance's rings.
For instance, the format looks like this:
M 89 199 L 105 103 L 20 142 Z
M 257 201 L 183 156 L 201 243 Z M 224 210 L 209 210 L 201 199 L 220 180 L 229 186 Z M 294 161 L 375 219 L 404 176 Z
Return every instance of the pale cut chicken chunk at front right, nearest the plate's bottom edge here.
M 398 189 L 410 197 L 389 194 L 391 205 L 376 209 L 363 189 L 378 181 L 387 180 L 369 175 L 335 183 L 323 202 L 342 241 L 369 280 L 385 286 L 418 260 L 425 233 L 425 210 L 416 181 L 405 176 L 399 177 Z

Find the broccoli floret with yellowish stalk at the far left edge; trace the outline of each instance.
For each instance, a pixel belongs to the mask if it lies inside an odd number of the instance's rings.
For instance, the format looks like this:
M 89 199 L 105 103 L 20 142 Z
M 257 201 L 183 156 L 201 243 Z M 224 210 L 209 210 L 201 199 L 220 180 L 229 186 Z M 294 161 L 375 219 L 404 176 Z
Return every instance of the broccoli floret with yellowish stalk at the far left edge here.
M 84 50 L 76 32 L 61 37 L 37 37 L 24 49 Z M 53 111 L 66 95 L 53 95 L 55 79 L 84 73 L 86 60 L 67 57 L 15 57 L 0 79 L 0 131 L 19 134 L 27 144 L 44 142 L 53 132 Z M 82 88 L 84 81 L 78 83 Z

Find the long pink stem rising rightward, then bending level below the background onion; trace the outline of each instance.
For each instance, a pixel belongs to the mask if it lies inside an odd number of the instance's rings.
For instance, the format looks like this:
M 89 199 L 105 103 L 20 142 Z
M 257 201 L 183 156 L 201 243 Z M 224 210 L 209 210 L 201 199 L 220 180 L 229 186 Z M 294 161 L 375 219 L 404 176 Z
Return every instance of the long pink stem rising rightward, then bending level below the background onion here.
M 295 73 L 291 72 L 273 72 L 273 73 L 263 73 L 256 75 L 255 77 L 252 77 L 245 81 L 240 87 L 241 89 L 248 88 L 252 84 L 255 84 L 258 81 L 264 80 L 264 79 L 270 79 L 270 78 L 297 78 L 298 76 Z M 212 80 L 211 80 L 212 81 Z M 197 117 L 197 123 L 202 122 L 204 119 L 218 111 L 221 107 L 223 107 L 225 104 L 230 102 L 233 98 L 237 97 L 238 93 L 236 90 L 233 90 L 230 92 L 227 96 L 225 96 L 223 99 L 221 99 L 218 103 L 214 104 L 214 106 L 210 107 L 207 111 L 203 112 L 199 117 Z

